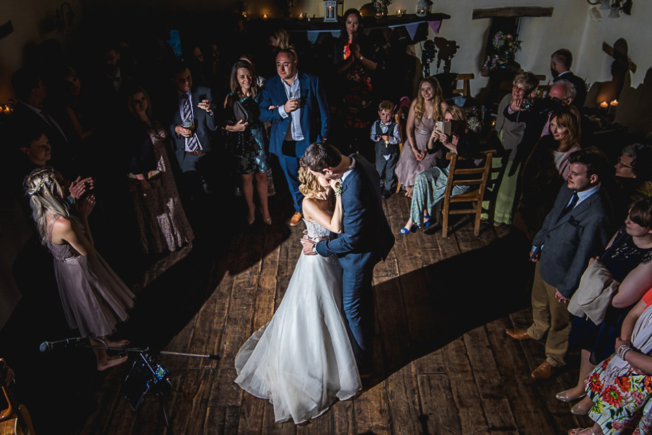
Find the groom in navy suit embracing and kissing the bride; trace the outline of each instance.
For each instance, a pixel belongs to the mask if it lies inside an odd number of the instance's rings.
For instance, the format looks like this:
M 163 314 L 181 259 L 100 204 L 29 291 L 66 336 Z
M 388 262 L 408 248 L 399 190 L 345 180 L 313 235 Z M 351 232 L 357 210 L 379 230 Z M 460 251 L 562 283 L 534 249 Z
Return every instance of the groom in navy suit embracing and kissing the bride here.
M 336 196 L 342 196 L 342 233 L 315 244 L 301 239 L 305 255 L 337 255 L 342 266 L 342 309 L 346 316 L 353 354 L 360 376 L 371 375 L 373 342 L 373 268 L 394 246 L 394 235 L 380 201 L 380 178 L 375 167 L 360 154 L 342 156 L 332 145 L 313 143 L 301 164 L 315 175 L 339 179 Z

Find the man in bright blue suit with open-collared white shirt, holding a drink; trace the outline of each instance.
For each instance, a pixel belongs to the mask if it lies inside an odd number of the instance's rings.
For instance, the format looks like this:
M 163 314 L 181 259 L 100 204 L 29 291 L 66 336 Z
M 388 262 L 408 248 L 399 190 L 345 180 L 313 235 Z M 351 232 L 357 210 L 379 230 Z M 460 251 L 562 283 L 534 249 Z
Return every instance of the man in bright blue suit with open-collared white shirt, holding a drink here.
M 319 79 L 296 70 L 296 54 L 289 49 L 276 56 L 278 75 L 265 82 L 260 96 L 260 120 L 270 122 L 270 152 L 279 157 L 286 174 L 294 216 L 290 225 L 301 222 L 299 158 L 308 145 L 328 138 L 329 108 Z

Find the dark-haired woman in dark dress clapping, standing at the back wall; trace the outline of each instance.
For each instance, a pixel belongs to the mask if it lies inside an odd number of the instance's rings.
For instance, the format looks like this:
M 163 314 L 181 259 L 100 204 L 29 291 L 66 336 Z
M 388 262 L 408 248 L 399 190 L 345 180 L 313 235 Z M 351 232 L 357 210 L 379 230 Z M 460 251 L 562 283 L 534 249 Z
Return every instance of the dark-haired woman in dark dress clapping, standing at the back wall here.
M 373 45 L 362 32 L 362 16 L 357 9 L 349 9 L 342 17 L 342 28 L 335 49 L 335 71 L 340 78 L 338 107 L 344 119 L 347 138 L 353 149 L 364 151 L 373 161 L 373 146 L 366 137 L 373 108 L 371 73 L 374 61 Z M 360 150 L 360 145 L 368 145 Z

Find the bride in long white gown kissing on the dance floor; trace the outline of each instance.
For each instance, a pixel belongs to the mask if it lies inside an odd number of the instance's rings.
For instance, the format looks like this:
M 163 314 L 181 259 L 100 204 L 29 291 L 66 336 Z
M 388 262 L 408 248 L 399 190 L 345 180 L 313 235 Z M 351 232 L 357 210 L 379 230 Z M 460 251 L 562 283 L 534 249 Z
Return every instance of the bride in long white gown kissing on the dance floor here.
M 307 237 L 323 240 L 342 231 L 336 180 L 299 169 Z M 235 356 L 235 382 L 269 399 L 277 423 L 305 423 L 336 400 L 362 389 L 341 312 L 342 268 L 336 257 L 301 255 L 272 320 Z

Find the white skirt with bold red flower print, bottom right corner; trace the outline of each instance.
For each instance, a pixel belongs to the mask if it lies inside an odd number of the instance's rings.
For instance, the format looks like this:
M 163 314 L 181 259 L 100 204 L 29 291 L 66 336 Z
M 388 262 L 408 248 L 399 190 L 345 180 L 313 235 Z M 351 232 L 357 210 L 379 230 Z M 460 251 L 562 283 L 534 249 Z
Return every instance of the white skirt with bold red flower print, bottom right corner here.
M 585 380 L 593 401 L 589 416 L 605 435 L 652 434 L 652 376 L 630 369 L 625 376 L 609 381 L 607 366 L 613 357 L 596 366 Z

